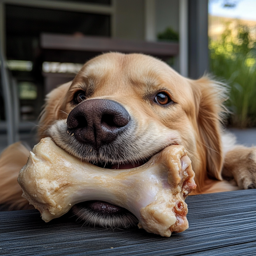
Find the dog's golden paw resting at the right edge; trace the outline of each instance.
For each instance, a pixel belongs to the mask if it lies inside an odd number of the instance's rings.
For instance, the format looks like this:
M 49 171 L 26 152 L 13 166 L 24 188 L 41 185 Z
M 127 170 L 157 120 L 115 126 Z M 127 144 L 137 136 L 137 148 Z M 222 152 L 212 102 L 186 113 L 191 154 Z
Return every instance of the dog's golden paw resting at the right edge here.
M 224 158 L 222 176 L 240 189 L 256 188 L 256 147 L 236 146 Z

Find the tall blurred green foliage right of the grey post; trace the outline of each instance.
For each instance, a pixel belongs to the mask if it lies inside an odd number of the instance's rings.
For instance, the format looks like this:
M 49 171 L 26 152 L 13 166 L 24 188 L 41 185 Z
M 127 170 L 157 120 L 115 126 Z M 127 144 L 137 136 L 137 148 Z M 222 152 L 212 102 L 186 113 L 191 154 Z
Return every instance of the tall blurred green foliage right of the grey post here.
M 256 125 L 256 42 L 246 26 L 238 25 L 236 36 L 229 24 L 218 41 L 210 41 L 210 68 L 230 87 L 226 106 L 233 126 Z

